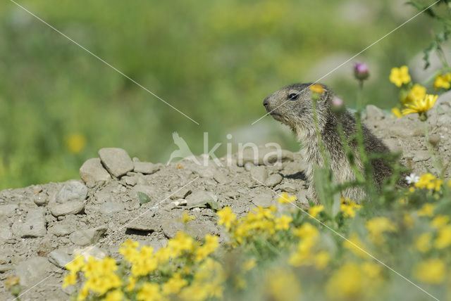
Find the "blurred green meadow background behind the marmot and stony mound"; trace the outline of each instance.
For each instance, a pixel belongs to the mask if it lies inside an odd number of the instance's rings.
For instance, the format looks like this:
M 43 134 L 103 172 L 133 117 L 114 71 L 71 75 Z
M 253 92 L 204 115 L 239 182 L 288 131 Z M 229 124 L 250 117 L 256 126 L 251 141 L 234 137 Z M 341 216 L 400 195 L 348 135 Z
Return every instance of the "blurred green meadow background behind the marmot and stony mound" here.
M 99 148 L 166 162 L 178 132 L 193 153 L 233 143 L 299 146 L 262 99 L 311 82 L 414 15 L 404 1 L 42 1 L 19 3 L 199 122 L 188 120 L 11 1 L 0 4 L 0 189 L 78 178 Z M 425 1 L 432 3 L 433 1 Z M 321 82 L 352 107 L 352 66 L 369 64 L 368 103 L 391 108 L 390 68 L 428 46 L 408 23 Z

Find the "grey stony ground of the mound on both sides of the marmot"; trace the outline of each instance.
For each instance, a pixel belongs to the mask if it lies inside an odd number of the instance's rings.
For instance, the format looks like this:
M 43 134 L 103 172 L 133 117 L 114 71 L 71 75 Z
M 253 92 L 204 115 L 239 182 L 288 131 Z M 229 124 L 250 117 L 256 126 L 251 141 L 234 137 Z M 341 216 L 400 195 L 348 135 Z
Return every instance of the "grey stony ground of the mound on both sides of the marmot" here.
M 434 158 L 416 115 L 397 119 L 370 105 L 364 121 L 420 174 L 435 172 L 440 159 L 449 161 L 450 96 L 440 97 L 429 115 Z M 267 151 L 259 152 L 260 164 Z M 221 162 L 225 166 L 204 167 L 192 160 L 152 164 L 130 159 L 119 148 L 104 148 L 80 168 L 81 180 L 1 191 L 0 300 L 13 300 L 6 283 L 16 276 L 23 286 L 21 300 L 66 300 L 72 290 L 61 288 L 66 273 L 61 267 L 80 250 L 119 258 L 118 246 L 127 238 L 158 249 L 179 230 L 196 238 L 221 236 L 218 208 L 230 206 L 240 216 L 257 205 L 277 205 L 275 191 L 295 194 L 299 205 L 307 204 L 299 153 L 283 151 L 282 162 L 274 166 L 254 165 L 250 150 L 243 166 L 236 157 L 230 166 L 226 158 Z M 188 210 L 196 219 L 183 224 L 179 219 Z

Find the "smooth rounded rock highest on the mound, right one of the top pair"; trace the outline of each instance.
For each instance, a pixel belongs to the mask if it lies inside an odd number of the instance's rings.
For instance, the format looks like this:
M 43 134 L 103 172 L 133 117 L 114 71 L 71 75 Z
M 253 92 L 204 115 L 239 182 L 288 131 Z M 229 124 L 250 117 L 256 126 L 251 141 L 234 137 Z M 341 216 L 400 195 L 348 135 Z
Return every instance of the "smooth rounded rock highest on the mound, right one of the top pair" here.
M 116 178 L 135 168 L 132 159 L 122 148 L 102 148 L 99 151 L 99 157 L 109 173 Z

